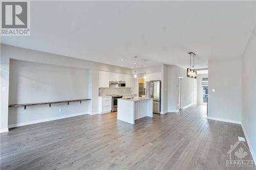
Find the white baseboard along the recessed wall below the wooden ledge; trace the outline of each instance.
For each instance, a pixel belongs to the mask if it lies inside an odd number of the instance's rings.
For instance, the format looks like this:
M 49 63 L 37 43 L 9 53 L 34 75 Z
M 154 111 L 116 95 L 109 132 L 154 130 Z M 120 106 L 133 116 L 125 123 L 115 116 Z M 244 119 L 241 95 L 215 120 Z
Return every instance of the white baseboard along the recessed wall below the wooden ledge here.
M 11 125 L 8 125 L 8 128 L 14 128 L 14 127 L 19 127 L 19 126 L 37 124 L 37 123 L 41 123 L 41 122 L 48 122 L 48 121 L 51 121 L 51 120 L 57 120 L 57 119 L 73 117 L 73 116 L 79 116 L 79 115 L 83 115 L 83 114 L 89 114 L 89 112 L 81 112 L 81 113 L 69 114 L 69 115 L 64 115 L 64 116 L 57 116 L 57 117 L 33 120 L 33 121 L 29 121 L 29 122 L 11 124 Z M 1 132 L 2 132 L 2 130 L 1 130 Z

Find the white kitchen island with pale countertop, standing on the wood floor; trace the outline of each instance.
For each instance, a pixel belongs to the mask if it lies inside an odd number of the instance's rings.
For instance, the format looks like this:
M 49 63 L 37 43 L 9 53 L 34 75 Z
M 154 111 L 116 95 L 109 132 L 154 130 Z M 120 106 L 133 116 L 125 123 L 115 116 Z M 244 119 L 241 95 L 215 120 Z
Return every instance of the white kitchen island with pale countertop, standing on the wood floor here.
M 134 124 L 136 119 L 153 117 L 153 99 L 136 97 L 134 99 L 118 99 L 117 119 Z

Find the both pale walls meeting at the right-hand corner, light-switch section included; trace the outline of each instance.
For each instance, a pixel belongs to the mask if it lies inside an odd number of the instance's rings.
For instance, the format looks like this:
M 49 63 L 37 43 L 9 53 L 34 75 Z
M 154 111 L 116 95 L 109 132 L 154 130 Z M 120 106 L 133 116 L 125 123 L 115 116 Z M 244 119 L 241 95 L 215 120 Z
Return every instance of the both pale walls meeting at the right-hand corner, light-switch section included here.
M 242 124 L 256 161 L 255 27 L 241 58 L 209 60 L 208 118 Z M 215 92 L 212 92 L 215 89 Z

